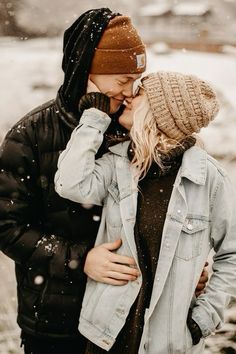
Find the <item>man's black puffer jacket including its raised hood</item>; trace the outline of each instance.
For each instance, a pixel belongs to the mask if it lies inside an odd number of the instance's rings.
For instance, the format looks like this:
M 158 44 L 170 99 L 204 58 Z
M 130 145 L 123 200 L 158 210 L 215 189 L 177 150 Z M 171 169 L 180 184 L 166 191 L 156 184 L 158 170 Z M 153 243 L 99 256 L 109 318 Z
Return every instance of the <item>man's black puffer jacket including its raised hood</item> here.
M 0 151 L 0 247 L 16 264 L 18 324 L 37 336 L 78 336 L 83 262 L 101 210 L 59 197 L 54 174 L 79 121 L 94 48 L 113 16 L 109 9 L 92 10 L 65 32 L 65 80 L 57 99 L 18 122 Z

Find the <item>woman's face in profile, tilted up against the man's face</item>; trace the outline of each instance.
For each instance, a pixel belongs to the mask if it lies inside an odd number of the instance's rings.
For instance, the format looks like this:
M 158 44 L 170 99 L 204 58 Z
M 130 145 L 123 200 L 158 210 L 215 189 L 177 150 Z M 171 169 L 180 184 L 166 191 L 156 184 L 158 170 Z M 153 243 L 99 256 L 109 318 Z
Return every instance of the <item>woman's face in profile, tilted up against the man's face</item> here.
M 119 123 L 127 130 L 130 130 L 133 125 L 134 113 L 138 107 L 141 106 L 142 102 L 145 100 L 146 94 L 145 91 L 140 88 L 135 97 L 126 99 L 126 107 L 124 112 L 119 117 Z

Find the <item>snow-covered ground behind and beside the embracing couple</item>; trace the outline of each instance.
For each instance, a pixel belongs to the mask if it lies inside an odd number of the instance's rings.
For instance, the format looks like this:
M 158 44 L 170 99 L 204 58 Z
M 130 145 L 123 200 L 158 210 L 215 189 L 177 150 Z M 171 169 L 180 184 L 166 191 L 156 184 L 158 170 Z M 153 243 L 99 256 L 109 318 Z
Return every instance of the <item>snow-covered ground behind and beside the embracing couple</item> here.
M 0 141 L 6 131 L 32 108 L 55 97 L 62 79 L 60 69 L 61 40 L 36 39 L 17 41 L 0 38 Z M 217 157 L 236 186 L 236 56 L 174 51 L 166 55 L 148 55 L 148 71 L 172 70 L 193 73 L 210 81 L 219 92 L 222 110 L 211 127 L 202 133 L 207 150 Z M 13 265 L 5 257 L 0 259 L 0 331 L 7 323 L 9 335 L 16 335 L 15 282 Z M 6 286 L 7 284 L 7 286 Z M 6 322 L 6 315 L 8 321 Z M 227 324 L 208 339 L 206 353 L 236 353 L 236 309 L 227 312 Z M 1 336 L 0 354 L 19 354 L 14 341 Z M 232 339 L 234 338 L 234 339 Z M 12 351 L 2 351 L 2 341 L 8 341 Z M 17 344 L 18 345 L 18 344 Z M 220 349 L 225 347 L 223 349 Z M 227 349 L 228 347 L 228 349 Z

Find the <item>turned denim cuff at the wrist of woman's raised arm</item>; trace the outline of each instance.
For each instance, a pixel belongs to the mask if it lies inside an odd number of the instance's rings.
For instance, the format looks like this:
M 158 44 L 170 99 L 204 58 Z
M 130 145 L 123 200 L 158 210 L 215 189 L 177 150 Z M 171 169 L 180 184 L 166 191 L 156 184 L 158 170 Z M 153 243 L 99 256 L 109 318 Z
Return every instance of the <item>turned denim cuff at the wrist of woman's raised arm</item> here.
M 110 123 L 111 118 L 106 113 L 96 108 L 90 108 L 84 111 L 77 129 L 79 129 L 81 124 L 85 124 L 105 133 Z

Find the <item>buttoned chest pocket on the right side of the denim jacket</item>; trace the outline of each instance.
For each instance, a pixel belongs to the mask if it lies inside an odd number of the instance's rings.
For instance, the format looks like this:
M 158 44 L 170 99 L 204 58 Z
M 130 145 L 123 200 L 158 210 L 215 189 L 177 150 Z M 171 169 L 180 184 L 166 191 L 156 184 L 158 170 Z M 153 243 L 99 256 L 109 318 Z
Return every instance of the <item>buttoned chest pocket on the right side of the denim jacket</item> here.
M 185 261 L 198 257 L 202 251 L 203 239 L 209 232 L 209 222 L 206 218 L 186 217 L 179 242 L 176 257 Z

